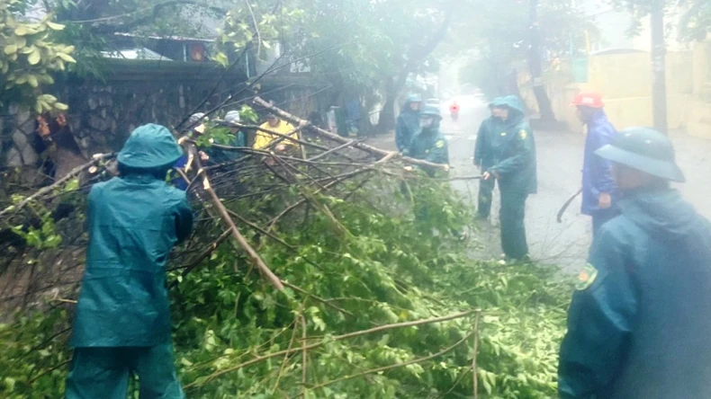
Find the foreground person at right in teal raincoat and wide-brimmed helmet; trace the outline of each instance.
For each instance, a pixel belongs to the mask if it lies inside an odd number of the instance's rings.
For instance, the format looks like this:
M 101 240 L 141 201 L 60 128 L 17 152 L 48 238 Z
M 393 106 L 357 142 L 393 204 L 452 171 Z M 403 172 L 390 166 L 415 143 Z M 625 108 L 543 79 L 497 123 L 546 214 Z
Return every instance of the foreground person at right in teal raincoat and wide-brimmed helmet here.
M 684 182 L 668 137 L 619 131 L 621 214 L 600 227 L 561 345 L 564 399 L 711 397 L 711 223 L 669 182 Z

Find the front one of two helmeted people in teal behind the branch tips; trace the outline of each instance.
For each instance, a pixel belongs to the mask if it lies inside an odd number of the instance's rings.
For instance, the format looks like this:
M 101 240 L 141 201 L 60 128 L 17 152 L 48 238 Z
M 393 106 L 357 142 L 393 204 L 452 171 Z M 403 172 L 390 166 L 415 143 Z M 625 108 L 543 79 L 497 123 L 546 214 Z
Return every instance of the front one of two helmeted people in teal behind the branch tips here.
M 449 164 L 449 150 L 446 138 L 439 131 L 442 114 L 437 107 L 428 105 L 419 112 L 419 131 L 410 140 L 410 146 L 403 152 L 415 159 L 433 164 Z M 424 168 L 430 177 L 437 171 Z

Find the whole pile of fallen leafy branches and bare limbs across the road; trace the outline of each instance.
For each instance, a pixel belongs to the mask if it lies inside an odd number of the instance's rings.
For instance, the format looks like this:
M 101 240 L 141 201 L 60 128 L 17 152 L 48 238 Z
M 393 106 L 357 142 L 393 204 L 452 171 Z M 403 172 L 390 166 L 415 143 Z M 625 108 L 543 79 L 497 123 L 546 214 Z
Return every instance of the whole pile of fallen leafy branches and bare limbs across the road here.
M 451 233 L 469 220 L 464 204 L 446 179 L 418 172 L 443 165 L 255 102 L 300 138 L 265 129 L 279 138 L 263 150 L 180 140 L 188 164 L 177 173 L 197 225 L 169 272 L 189 396 L 471 397 L 475 386 L 500 397 L 554 395 L 565 289 L 545 269 L 470 260 Z M 276 151 L 285 140 L 304 151 Z M 201 151 L 233 156 L 203 162 Z M 111 177 L 109 159 L 2 211 L 25 244 L 5 243 L 0 306 L 42 311 L 0 326 L 0 350 L 23 365 L 12 368 L 18 395 L 61 388 L 83 267 L 81 209 L 91 183 Z M 24 226 L 28 217 L 39 222 Z

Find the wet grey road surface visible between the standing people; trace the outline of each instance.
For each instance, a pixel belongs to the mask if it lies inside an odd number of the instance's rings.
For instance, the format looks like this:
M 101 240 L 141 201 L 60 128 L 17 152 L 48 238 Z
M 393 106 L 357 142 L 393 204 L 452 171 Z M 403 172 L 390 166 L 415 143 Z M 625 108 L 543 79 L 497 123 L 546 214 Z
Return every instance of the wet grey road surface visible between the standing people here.
M 448 118 L 446 103 L 443 103 L 442 131 L 449 144 L 450 177 L 475 176 L 479 171 L 473 166 L 473 150 L 476 133 L 488 110 L 481 99 L 474 96 L 458 97 L 459 120 Z M 614 121 L 613 121 L 614 123 Z M 620 128 L 620 127 L 618 127 Z M 538 193 L 527 200 L 526 226 L 531 256 L 540 261 L 559 265 L 563 270 L 576 271 L 585 262 L 591 239 L 590 218 L 580 213 L 580 197 L 575 199 L 565 215 L 563 223 L 557 223 L 555 215 L 566 199 L 580 188 L 581 163 L 584 137 L 580 133 L 536 131 L 538 159 Z M 677 188 L 693 203 L 698 212 L 711 218 L 711 141 L 672 134 L 677 148 L 680 167 L 688 182 Z M 394 148 L 394 137 L 375 137 L 375 146 Z M 462 192 L 473 207 L 479 182 L 455 181 L 455 188 Z M 483 245 L 482 256 L 498 257 L 499 217 L 498 191 L 495 192 L 491 221 L 480 223 L 477 240 Z

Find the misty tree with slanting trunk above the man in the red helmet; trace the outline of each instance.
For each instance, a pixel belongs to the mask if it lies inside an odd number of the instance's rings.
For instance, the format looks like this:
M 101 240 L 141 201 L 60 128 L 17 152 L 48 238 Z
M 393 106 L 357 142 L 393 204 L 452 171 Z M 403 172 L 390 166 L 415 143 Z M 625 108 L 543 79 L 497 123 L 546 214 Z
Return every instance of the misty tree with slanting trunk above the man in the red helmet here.
M 473 60 L 463 79 L 482 88 L 490 97 L 517 93 L 511 79 L 516 68 L 527 64 L 534 78 L 534 92 L 543 120 L 554 120 L 545 88 L 541 85 L 546 58 L 580 49 L 585 31 L 593 24 L 569 0 L 504 0 L 473 3 L 475 20 L 459 26 L 464 49 Z

